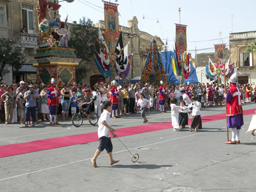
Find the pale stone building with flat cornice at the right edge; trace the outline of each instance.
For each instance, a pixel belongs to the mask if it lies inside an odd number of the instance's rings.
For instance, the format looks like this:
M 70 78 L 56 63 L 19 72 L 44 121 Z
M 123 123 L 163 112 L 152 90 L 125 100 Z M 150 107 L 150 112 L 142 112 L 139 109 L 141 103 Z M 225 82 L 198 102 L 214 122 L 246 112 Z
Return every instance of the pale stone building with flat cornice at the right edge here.
M 256 39 L 256 31 L 229 34 L 231 62 L 235 62 L 239 83 L 256 83 L 256 53 L 246 52 Z

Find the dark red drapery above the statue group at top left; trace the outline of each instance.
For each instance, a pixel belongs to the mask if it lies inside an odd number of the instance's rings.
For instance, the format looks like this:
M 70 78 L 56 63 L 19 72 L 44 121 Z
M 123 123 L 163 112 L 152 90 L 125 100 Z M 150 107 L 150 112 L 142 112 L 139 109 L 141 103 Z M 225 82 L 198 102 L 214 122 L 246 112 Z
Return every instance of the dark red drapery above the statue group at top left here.
M 43 19 L 45 19 L 48 11 L 59 11 L 61 5 L 57 3 L 52 3 L 46 0 L 37 0 L 37 20 L 38 25 Z

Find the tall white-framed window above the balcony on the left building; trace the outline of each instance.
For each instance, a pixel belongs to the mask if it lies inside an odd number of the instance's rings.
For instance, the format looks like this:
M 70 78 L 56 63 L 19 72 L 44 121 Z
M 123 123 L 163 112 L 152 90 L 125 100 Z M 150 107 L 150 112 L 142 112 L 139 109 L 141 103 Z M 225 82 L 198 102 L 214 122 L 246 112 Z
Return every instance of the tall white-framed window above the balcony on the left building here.
M 23 26 L 26 27 L 28 33 L 34 33 L 34 11 L 33 6 L 30 5 L 22 5 L 22 20 Z

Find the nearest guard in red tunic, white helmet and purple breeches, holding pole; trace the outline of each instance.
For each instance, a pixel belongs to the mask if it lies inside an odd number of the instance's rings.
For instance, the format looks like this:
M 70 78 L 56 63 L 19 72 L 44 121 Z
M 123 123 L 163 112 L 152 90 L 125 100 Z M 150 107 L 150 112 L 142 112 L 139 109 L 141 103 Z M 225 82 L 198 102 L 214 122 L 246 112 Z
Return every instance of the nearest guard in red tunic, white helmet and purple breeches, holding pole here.
M 239 88 L 236 87 L 237 73 L 234 73 L 229 78 L 230 88 L 225 94 L 225 101 L 227 102 L 227 127 L 232 130 L 232 139 L 225 142 L 226 144 L 240 144 L 239 133 L 241 126 L 244 125 L 244 118 L 242 117 L 242 104 Z

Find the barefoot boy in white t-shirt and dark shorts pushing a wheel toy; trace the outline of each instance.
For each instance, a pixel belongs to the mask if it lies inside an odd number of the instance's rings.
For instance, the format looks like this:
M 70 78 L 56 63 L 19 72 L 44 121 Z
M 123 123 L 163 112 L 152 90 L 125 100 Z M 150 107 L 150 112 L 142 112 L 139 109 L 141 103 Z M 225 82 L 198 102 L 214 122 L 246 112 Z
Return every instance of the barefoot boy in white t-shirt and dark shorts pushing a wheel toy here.
M 112 149 L 113 145 L 111 142 L 111 137 L 109 135 L 109 131 L 111 132 L 113 137 L 117 137 L 117 135 L 114 133 L 114 129 L 110 126 L 110 118 L 109 113 L 112 111 L 112 103 L 110 101 L 103 102 L 103 112 L 100 115 L 99 122 L 98 122 L 98 137 L 100 145 L 98 149 L 96 149 L 96 152 L 94 154 L 94 157 L 91 159 L 91 163 L 94 167 L 97 167 L 96 159 L 103 151 L 104 149 L 107 150 L 108 158 L 109 158 L 109 164 L 114 164 L 119 162 L 119 160 L 113 160 L 112 157 Z

